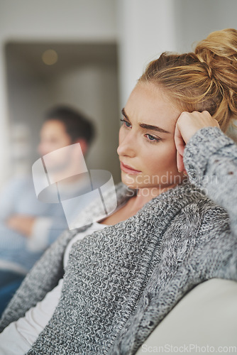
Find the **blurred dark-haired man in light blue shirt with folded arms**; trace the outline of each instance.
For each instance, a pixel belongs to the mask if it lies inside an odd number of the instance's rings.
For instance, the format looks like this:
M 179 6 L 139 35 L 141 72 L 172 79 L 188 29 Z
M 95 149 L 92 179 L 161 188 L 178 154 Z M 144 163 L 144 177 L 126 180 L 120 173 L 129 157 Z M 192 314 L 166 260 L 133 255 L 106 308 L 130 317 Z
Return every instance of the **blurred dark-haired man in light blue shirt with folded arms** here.
M 56 107 L 46 115 L 38 152 L 48 157 L 51 178 L 61 180 L 62 195 L 83 195 L 83 174 L 77 175 L 75 170 L 83 163 L 93 138 L 92 123 L 73 109 Z M 82 206 L 86 203 L 84 199 Z M 62 204 L 40 202 L 32 177 L 15 179 L 4 189 L 0 195 L 0 314 L 35 261 L 65 229 Z

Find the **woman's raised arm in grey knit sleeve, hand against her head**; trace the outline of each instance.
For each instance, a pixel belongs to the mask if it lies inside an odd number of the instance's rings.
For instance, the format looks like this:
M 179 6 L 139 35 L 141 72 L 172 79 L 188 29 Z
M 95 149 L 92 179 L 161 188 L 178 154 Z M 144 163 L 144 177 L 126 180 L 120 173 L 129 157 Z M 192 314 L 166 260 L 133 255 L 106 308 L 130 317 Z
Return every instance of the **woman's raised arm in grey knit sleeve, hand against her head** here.
M 175 131 L 177 165 L 187 170 L 190 182 L 224 207 L 237 234 L 237 146 L 207 111 L 184 112 Z

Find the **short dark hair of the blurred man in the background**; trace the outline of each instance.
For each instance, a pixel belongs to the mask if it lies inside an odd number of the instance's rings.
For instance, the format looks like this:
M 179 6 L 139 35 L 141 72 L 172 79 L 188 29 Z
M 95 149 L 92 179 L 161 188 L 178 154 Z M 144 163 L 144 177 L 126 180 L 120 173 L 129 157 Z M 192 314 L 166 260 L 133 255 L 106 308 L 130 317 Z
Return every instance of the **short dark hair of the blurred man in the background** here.
M 87 116 L 67 106 L 58 106 L 50 109 L 45 114 L 45 121 L 57 120 L 65 125 L 66 132 L 72 138 L 72 143 L 79 138 L 84 138 L 91 143 L 94 138 L 94 125 Z

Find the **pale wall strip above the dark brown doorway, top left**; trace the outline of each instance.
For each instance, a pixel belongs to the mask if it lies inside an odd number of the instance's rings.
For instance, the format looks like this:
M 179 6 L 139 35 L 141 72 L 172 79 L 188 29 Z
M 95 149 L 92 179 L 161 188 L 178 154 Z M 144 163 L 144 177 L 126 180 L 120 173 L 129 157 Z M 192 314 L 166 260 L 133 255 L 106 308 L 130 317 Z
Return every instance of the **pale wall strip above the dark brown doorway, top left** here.
M 114 40 L 114 0 L 1 0 L 1 40 Z

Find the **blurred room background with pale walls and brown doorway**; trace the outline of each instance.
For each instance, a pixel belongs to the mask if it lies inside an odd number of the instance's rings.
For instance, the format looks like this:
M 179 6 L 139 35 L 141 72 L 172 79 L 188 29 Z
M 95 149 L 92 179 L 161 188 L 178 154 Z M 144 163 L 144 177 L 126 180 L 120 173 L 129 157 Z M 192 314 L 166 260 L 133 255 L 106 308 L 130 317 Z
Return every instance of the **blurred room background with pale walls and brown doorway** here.
M 0 0 L 0 188 L 31 171 L 56 104 L 94 121 L 87 166 L 118 182 L 120 111 L 145 65 L 237 28 L 236 13 L 236 0 Z

